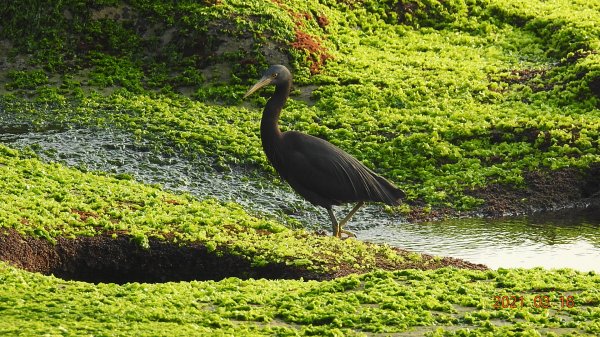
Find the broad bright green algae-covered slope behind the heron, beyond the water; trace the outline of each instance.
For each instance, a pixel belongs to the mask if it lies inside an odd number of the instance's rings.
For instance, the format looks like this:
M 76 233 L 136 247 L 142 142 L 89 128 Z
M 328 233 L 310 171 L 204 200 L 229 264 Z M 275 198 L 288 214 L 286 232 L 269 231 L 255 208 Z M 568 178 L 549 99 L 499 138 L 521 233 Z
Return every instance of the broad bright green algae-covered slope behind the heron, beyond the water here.
M 258 137 L 265 99 L 239 105 L 268 63 L 287 62 L 297 85 L 316 89 L 308 105 L 307 95 L 292 97 L 282 127 L 340 146 L 412 200 L 469 209 L 481 203 L 470 189 L 518 186 L 527 170 L 600 161 L 596 2 L 90 3 L 34 6 L 31 13 L 54 6 L 58 15 L 39 19 L 54 27 L 43 31 L 11 28 L 26 5 L 5 9 L 18 15 L 2 34 L 34 53 L 34 62 L 89 78 L 87 97 L 68 83 L 38 90 L 38 101 L 54 101 L 38 115 L 40 125 L 54 118 L 116 126 L 161 151 L 271 170 Z M 129 14 L 111 14 L 119 10 Z M 62 36 L 62 44 L 43 44 Z M 46 62 L 57 48 L 61 59 Z M 101 97 L 96 87 L 119 90 Z M 76 103 L 66 103 L 70 95 Z M 32 109 L 3 104 L 13 114 Z

